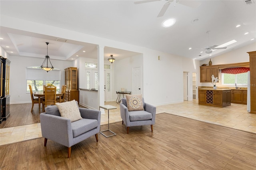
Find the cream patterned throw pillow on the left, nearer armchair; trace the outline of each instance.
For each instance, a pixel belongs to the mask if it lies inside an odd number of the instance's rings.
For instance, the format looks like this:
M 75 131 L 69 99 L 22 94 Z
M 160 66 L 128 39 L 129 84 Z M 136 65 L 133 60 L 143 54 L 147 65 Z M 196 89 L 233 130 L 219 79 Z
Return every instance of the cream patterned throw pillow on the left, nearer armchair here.
M 56 103 L 60 111 L 60 116 L 71 120 L 71 122 L 82 119 L 79 108 L 75 100 L 67 101 L 63 103 Z

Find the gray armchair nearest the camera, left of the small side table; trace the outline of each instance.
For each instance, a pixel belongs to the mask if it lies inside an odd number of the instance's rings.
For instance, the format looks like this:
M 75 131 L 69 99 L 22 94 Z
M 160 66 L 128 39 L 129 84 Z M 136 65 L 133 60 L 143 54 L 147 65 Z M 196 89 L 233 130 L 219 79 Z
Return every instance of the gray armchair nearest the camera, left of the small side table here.
M 56 105 L 45 108 L 46 112 L 40 114 L 44 146 L 46 146 L 47 139 L 67 146 L 68 158 L 70 158 L 71 146 L 94 134 L 96 141 L 98 142 L 101 112 L 84 108 L 79 108 L 79 110 L 83 119 L 71 123 L 70 119 L 60 116 L 60 112 Z

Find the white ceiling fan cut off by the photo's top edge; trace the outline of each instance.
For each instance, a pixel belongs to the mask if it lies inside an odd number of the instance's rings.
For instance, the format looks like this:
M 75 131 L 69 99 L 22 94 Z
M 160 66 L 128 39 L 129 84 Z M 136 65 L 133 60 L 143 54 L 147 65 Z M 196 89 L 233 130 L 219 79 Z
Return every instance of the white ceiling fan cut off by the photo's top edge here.
M 147 3 L 147 2 L 154 2 L 154 1 L 160 1 L 160 0 L 142 0 L 142 1 L 136 1 L 134 2 L 134 4 L 142 4 L 142 3 Z M 162 9 L 160 10 L 159 14 L 157 17 L 161 17 L 161 16 L 164 16 L 167 8 L 169 7 L 169 5 L 174 1 L 174 6 L 176 6 L 175 3 L 177 4 L 182 4 L 182 5 L 185 5 L 185 6 L 189 6 L 189 7 L 192 7 L 192 8 L 197 8 L 198 6 L 201 5 L 200 2 L 197 2 L 197 1 L 183 1 L 183 0 L 165 0 L 167 1 L 164 6 L 162 7 Z

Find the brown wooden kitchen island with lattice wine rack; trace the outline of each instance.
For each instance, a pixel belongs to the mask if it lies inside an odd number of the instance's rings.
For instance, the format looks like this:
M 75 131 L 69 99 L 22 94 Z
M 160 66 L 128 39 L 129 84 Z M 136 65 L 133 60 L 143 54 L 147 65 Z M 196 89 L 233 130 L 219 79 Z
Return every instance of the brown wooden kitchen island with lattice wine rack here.
M 198 89 L 198 104 L 214 107 L 231 105 L 231 89 Z

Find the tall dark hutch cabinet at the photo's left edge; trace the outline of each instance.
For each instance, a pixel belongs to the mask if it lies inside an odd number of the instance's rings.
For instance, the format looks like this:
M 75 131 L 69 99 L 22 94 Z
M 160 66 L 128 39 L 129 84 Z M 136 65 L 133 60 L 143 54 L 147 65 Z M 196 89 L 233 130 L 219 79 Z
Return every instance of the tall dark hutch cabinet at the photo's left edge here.
M 11 61 L 0 56 L 0 123 L 6 121 L 10 117 L 10 94 L 9 94 L 9 81 L 10 81 L 10 63 Z

